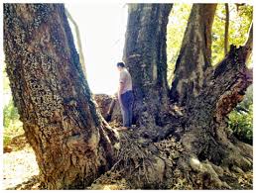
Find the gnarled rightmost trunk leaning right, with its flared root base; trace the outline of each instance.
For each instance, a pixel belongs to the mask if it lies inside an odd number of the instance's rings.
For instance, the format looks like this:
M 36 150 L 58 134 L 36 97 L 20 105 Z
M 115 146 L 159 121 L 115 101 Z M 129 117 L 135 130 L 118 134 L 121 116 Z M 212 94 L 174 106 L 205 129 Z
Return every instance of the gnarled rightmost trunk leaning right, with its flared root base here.
M 252 27 L 245 46 L 230 47 L 226 57 L 208 71 L 206 87 L 187 106 L 186 130 L 182 137 L 190 156 L 209 160 L 224 169 L 247 171 L 252 168 L 252 146 L 237 141 L 226 132 L 226 116 L 242 101 L 252 83 L 252 69 L 245 65 L 252 51 Z M 193 158 L 194 158 L 193 157 Z M 181 161 L 181 165 L 184 164 Z

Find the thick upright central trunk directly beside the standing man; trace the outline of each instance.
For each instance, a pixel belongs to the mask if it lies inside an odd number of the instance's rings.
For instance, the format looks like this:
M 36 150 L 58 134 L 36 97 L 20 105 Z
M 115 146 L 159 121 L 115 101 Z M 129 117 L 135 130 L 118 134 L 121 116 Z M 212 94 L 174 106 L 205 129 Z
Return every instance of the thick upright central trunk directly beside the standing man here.
M 129 4 L 123 60 L 132 76 L 134 120 L 161 125 L 169 105 L 166 33 L 173 4 Z

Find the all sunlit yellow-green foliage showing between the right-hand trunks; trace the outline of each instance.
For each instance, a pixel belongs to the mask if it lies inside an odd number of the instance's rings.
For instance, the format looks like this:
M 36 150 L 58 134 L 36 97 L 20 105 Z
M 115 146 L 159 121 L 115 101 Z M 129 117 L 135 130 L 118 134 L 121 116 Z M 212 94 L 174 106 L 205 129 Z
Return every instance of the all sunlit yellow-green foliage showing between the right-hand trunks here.
M 229 3 L 229 45 L 242 46 L 247 40 L 248 30 L 252 22 L 253 7 L 250 5 L 237 7 Z M 184 34 L 187 28 L 192 4 L 175 3 L 169 16 L 167 27 L 167 62 L 168 82 L 172 83 L 174 70 Z M 224 3 L 217 5 L 214 22 L 212 25 L 212 65 L 217 64 L 224 57 L 224 33 L 225 33 L 225 6 Z M 247 65 L 252 64 L 252 57 Z

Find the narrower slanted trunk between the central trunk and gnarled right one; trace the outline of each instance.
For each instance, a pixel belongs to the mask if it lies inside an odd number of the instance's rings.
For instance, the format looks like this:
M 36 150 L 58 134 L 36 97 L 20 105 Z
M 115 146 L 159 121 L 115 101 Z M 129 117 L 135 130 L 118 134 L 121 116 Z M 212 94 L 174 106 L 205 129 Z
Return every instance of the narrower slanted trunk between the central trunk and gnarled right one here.
M 204 71 L 211 66 L 211 27 L 216 4 L 193 4 L 171 88 L 174 102 L 186 105 L 203 86 Z

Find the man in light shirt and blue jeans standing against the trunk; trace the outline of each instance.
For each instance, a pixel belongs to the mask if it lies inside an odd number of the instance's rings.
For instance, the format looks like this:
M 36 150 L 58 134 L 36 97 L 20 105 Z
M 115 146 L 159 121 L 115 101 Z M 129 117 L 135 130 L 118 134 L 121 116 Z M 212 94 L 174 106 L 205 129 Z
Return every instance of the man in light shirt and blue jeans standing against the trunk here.
M 132 92 L 132 78 L 129 71 L 125 67 L 124 62 L 118 62 L 117 68 L 120 72 L 118 100 L 123 117 L 123 127 L 121 130 L 127 130 L 132 126 L 132 106 L 134 101 Z

